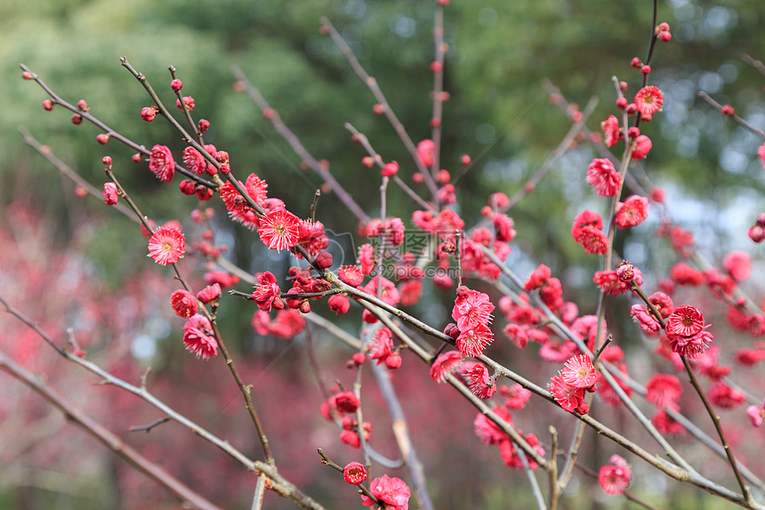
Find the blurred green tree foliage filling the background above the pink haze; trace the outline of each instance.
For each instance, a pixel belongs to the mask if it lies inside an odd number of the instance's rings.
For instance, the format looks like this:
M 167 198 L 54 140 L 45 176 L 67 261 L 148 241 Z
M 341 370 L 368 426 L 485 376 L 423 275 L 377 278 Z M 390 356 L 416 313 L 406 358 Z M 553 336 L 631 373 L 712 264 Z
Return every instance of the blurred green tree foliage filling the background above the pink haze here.
M 270 122 L 245 94 L 233 91 L 230 69 L 241 67 L 303 145 L 329 161 L 348 190 L 375 197 L 362 204 L 370 216 L 378 215 L 377 179 L 367 178 L 376 171 L 361 166 L 365 154 L 350 142 L 343 123 L 365 133 L 383 159 L 398 160 L 399 175 L 407 182 L 415 166 L 387 120 L 372 112 L 374 98 L 366 86 L 332 41 L 319 35 L 321 16 L 332 20 L 377 78 L 415 142 L 430 137 L 430 1 L 6 0 L 0 4 L 0 150 L 5 154 L 0 205 L 27 198 L 45 215 L 62 218 L 56 232 L 61 241 L 73 231 L 74 209 L 86 208 L 101 220 L 93 223 L 98 242 L 89 244 L 88 255 L 101 264 L 107 279 L 114 268 L 137 267 L 143 259 L 125 249 L 143 242 L 132 224 L 93 200 L 76 202 L 74 186 L 20 142 L 16 129 L 25 125 L 95 185 L 103 180 L 101 157 L 109 153 L 121 181 L 141 194 L 144 212 L 157 220 L 188 208 L 175 186 L 147 179 L 146 165 L 133 164 L 124 146 L 109 142 L 102 147 L 92 125 L 73 126 L 60 109 L 42 111 L 44 93 L 21 80 L 17 67 L 26 63 L 68 101 L 85 99 L 118 132 L 147 147 L 167 143 L 180 154 L 182 142 L 169 125 L 161 119 L 151 124 L 140 120 L 149 98 L 120 67 L 118 57 L 125 55 L 167 102 L 174 99 L 166 86 L 166 68 L 172 64 L 178 69 L 183 93 L 196 100 L 195 117 L 213 125 L 205 141 L 229 151 L 239 176 L 259 174 L 269 182 L 271 196 L 308 215 L 321 181 L 316 174 L 302 173 L 299 159 Z M 732 104 L 754 125 L 765 125 L 762 76 L 740 60 L 741 53 L 765 56 L 763 18 L 761 4 L 744 0 L 672 0 L 659 9 L 659 21 L 670 23 L 673 38 L 659 44 L 652 66 L 651 83 L 664 91 L 665 101 L 664 112 L 642 126 L 654 141 L 646 169 L 667 190 L 674 219 L 696 231 L 705 255 L 717 261 L 722 250 L 750 246 L 745 231 L 761 207 L 765 178 L 756 157 L 759 141 L 700 102 L 697 91 Z M 445 88 L 451 99 L 445 105 L 441 162 L 453 176 L 462 154 L 476 162 L 457 186 L 459 212 L 468 225 L 480 219 L 490 193 L 510 195 L 522 187 L 568 130 L 570 121 L 548 101 L 543 78 L 560 87 L 568 101 L 583 106 L 598 95 L 600 105 L 588 122 L 598 131 L 600 120 L 616 113 L 611 76 L 628 81 L 630 93 L 640 86 L 640 74 L 629 62 L 644 57 L 650 24 L 648 0 L 453 0 L 446 10 Z M 514 267 L 525 274 L 538 263 L 550 265 L 563 282 L 564 296 L 582 312 L 594 309 L 590 275 L 597 260 L 586 257 L 568 231 L 583 208 L 603 212 L 603 203 L 582 178 L 594 156 L 586 143 L 568 151 L 535 193 L 511 210 L 519 230 L 511 255 Z M 221 204 L 213 202 L 223 215 Z M 403 193 L 391 189 L 389 211 L 407 222 L 414 208 Z M 331 195 L 321 198 L 318 219 L 334 232 L 357 230 L 356 220 Z M 648 222 L 625 233 L 622 247 L 633 263 L 663 274 L 675 257 L 653 235 L 656 226 Z M 283 257 L 248 265 L 253 255 L 266 256 L 257 236 L 221 229 L 232 257 L 248 271 L 284 271 Z M 419 306 L 418 312 L 435 311 L 430 316 L 446 320 L 447 308 L 438 299 L 425 299 Z M 252 310 L 246 304 L 231 304 L 222 313 L 239 318 L 223 321 L 231 331 L 249 328 Z

